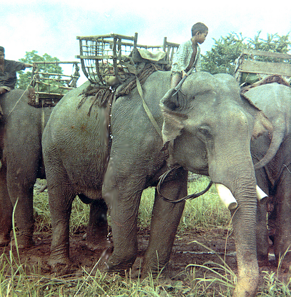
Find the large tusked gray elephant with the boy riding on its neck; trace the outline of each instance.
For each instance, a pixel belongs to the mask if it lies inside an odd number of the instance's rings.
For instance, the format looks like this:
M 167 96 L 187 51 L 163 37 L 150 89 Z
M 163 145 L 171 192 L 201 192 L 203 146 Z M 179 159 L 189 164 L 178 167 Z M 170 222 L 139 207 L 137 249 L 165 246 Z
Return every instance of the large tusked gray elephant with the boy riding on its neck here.
M 224 74 L 191 74 L 177 96 L 161 103 L 170 88 L 170 72 L 151 74 L 143 96 L 162 136 L 136 89 L 116 99 L 109 114 L 110 104 L 99 107 L 94 96 L 84 99 L 88 86 L 85 83 L 60 100 L 43 134 L 53 225 L 49 262 L 68 261 L 71 205 L 81 195 L 84 200 L 103 197 L 109 206 L 114 251 L 107 269 L 130 267 L 137 255 L 141 193 L 179 164 L 182 167 L 161 187 L 164 197 L 176 200 L 187 195 L 190 170 L 209 175 L 237 200 L 238 207 L 232 210 L 238 265 L 234 296 L 254 296 L 259 270 L 250 141 L 271 130 L 270 122 L 240 97 L 233 77 Z M 156 191 L 143 275 L 168 263 L 183 208 L 184 202 L 169 203 Z

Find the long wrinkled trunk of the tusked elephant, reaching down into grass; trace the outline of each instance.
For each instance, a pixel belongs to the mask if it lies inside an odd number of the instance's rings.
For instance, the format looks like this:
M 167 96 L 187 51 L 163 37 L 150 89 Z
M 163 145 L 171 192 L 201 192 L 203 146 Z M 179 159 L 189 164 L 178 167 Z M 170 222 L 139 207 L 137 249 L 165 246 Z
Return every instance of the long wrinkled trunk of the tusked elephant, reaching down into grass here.
M 255 296 L 259 280 L 256 248 L 257 186 L 249 146 L 248 151 L 244 152 L 231 151 L 225 146 L 224 155 L 216 151 L 209 162 L 209 176 L 213 182 L 226 186 L 237 201 L 237 207 L 231 210 L 238 268 L 233 296 Z

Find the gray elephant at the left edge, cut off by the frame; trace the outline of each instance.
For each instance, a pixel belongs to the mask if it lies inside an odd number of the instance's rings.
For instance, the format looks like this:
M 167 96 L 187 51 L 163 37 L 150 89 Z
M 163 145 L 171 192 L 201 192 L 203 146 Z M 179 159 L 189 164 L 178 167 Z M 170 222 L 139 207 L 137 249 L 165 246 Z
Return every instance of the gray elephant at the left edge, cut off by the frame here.
M 27 93 L 12 90 L 0 96 L 4 124 L 0 128 L 0 245 L 10 242 L 12 210 L 19 228 L 19 247 L 33 245 L 33 185 L 45 178 L 42 161 L 42 110 L 27 104 Z M 44 124 L 52 108 L 43 109 Z

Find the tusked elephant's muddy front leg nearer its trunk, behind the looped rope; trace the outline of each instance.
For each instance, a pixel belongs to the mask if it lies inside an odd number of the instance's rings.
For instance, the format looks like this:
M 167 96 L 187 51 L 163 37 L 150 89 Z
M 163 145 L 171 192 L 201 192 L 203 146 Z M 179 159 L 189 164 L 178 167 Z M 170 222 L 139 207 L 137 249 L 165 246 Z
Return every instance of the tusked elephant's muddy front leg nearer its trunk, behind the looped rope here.
M 173 200 L 187 196 L 187 175 L 187 171 L 180 169 L 175 180 L 163 185 L 162 195 Z M 150 271 L 158 273 L 168 264 L 184 205 L 184 201 L 167 202 L 156 191 L 149 245 L 143 260 L 143 277 Z

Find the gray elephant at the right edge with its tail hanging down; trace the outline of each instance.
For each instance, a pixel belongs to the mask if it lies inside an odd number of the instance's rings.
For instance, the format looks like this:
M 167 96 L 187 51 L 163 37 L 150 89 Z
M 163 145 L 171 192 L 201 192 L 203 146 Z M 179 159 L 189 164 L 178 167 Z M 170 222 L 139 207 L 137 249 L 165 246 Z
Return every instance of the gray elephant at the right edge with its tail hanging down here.
M 258 256 L 268 261 L 268 209 L 278 263 L 291 246 L 291 88 L 272 83 L 255 87 L 245 96 L 264 112 L 274 128 L 272 138 L 264 134 L 251 142 L 251 154 L 257 183 L 270 197 L 269 201 L 262 200 L 258 207 Z M 291 252 L 287 252 L 281 264 L 289 268 Z

